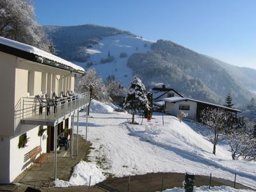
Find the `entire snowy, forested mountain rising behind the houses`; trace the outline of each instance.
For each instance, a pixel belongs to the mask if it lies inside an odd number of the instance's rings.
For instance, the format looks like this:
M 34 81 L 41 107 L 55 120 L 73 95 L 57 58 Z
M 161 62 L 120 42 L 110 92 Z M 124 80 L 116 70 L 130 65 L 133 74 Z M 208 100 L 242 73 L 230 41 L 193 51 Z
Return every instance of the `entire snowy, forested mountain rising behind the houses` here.
M 186 97 L 218 104 L 228 92 L 237 106 L 256 97 L 253 70 L 223 63 L 170 41 L 153 42 L 128 31 L 95 25 L 44 28 L 59 56 L 83 68 L 95 68 L 102 79 L 115 76 L 128 86 L 136 74 L 148 89 L 164 83 Z

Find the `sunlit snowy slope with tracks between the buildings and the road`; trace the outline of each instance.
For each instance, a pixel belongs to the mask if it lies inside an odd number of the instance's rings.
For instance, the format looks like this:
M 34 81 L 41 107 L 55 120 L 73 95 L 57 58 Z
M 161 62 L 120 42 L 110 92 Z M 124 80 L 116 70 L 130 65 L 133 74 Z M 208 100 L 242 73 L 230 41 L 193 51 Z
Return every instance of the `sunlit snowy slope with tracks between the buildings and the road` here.
M 163 126 L 161 114 L 155 114 L 151 122 L 144 120 L 143 125 L 132 125 L 127 124 L 131 115 L 117 113 L 109 105 L 93 100 L 91 107 L 88 140 L 93 150 L 89 159 L 90 164 L 96 166 L 93 167 L 95 175 L 89 174 L 94 184 L 104 180 L 101 172 L 115 177 L 152 172 L 212 173 L 212 177 L 228 180 L 234 180 L 237 173 L 237 182 L 256 189 L 256 163 L 232 160 L 225 145 L 218 145 L 214 156 L 212 144 L 195 131 L 196 124 L 179 122 L 174 116 L 166 115 Z M 79 134 L 82 136 L 85 117 L 85 113 L 80 113 Z M 141 118 L 136 120 L 141 122 Z M 89 171 L 86 166 L 77 166 L 70 182 L 58 181 L 56 186 L 88 185 L 81 180 L 88 180 L 90 176 L 84 172 Z

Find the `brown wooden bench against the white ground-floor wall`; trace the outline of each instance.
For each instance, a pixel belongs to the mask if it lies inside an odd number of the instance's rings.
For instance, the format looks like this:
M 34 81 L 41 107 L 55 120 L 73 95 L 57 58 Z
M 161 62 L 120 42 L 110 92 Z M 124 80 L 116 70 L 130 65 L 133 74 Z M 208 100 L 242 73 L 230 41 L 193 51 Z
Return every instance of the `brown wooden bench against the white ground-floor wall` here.
M 29 159 L 32 161 L 32 163 L 40 163 L 40 167 L 42 161 L 44 161 L 44 159 L 49 155 L 49 154 L 41 154 L 42 152 L 42 147 L 41 146 L 37 146 L 35 148 L 33 148 L 31 151 L 29 151 L 27 154 L 25 154 L 24 156 L 24 162 L 28 161 Z M 38 154 L 40 154 L 39 157 L 36 158 L 36 156 L 38 156 Z M 32 164 L 31 164 L 32 166 Z

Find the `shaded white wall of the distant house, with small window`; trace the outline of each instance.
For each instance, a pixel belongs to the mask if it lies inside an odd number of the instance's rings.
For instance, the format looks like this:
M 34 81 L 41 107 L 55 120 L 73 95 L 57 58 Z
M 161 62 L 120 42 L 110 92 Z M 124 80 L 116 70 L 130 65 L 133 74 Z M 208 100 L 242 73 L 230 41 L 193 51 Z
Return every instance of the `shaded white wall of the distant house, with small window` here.
M 189 110 L 181 110 L 184 113 L 188 113 L 188 116 L 186 118 L 189 118 L 191 120 L 195 120 L 196 118 L 196 108 L 197 108 L 197 103 L 193 102 L 191 100 L 182 100 L 179 102 L 175 102 L 175 103 L 170 103 L 170 102 L 166 102 L 166 108 L 168 110 L 168 113 L 170 115 L 173 116 L 177 116 L 177 114 L 179 113 L 179 105 L 180 104 L 186 104 L 189 105 Z

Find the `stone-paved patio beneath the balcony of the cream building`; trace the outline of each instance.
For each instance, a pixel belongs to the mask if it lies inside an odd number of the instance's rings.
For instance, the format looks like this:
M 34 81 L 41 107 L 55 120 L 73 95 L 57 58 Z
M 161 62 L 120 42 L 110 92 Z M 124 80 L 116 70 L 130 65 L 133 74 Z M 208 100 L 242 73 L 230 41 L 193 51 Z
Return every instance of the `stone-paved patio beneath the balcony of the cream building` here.
M 73 167 L 84 159 L 90 148 L 90 143 L 86 142 L 79 136 L 79 149 L 76 153 L 76 134 L 74 134 L 74 157 L 70 157 L 70 151 L 61 149 L 57 157 L 57 178 L 61 180 L 69 180 L 73 171 Z M 44 188 L 53 186 L 54 176 L 54 154 L 53 152 L 40 164 L 33 164 L 32 168 L 28 168 L 21 173 L 13 183 L 26 184 L 35 188 Z

